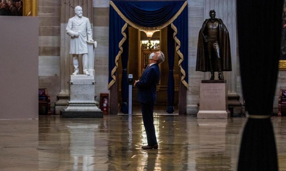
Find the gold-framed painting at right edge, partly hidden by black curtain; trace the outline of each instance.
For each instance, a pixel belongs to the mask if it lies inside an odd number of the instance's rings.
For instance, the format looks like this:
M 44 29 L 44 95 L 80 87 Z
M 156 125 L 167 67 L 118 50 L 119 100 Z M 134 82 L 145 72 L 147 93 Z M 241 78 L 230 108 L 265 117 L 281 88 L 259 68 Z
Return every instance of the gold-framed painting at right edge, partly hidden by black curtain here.
M 286 71 L 286 0 L 284 0 L 283 4 L 281 48 L 278 68 L 279 70 Z

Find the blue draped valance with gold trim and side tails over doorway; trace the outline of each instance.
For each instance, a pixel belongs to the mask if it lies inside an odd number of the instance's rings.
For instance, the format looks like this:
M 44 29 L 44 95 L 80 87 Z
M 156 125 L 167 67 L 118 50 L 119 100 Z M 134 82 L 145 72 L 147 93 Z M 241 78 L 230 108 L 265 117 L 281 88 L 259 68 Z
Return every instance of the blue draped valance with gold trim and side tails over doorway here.
M 110 1 L 109 10 L 109 84 L 116 81 L 114 73 L 123 52 L 128 24 L 139 30 L 160 30 L 168 25 L 174 31 L 180 56 L 181 81 L 188 88 L 188 8 L 187 1 Z

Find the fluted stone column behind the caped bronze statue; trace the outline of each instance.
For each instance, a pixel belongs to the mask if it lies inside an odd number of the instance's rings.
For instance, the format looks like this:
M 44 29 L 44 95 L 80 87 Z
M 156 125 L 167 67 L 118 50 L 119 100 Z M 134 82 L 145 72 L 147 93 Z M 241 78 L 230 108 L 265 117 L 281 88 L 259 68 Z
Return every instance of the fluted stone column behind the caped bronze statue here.
M 231 46 L 231 72 L 224 72 L 227 80 L 229 106 L 241 106 L 239 95 L 237 94 L 237 68 L 239 66 L 237 56 L 237 26 L 236 26 L 236 1 L 230 0 L 205 0 L 204 19 L 210 18 L 209 11 L 214 9 L 216 12 L 215 18 L 220 18 L 226 25 L 229 31 L 229 39 Z M 216 78 L 217 78 L 217 73 Z M 209 72 L 206 72 L 204 79 L 209 79 Z M 239 85 L 240 86 L 240 85 Z M 235 109 L 234 113 L 240 113 L 240 107 Z

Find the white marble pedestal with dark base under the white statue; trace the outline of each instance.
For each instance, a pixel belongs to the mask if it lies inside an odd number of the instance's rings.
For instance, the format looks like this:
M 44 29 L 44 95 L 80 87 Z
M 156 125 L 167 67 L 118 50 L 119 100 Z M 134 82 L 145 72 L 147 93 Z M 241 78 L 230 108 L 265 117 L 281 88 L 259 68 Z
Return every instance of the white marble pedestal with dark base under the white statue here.
M 103 112 L 94 100 L 94 75 L 71 75 L 69 82 L 70 101 L 62 118 L 103 118 Z

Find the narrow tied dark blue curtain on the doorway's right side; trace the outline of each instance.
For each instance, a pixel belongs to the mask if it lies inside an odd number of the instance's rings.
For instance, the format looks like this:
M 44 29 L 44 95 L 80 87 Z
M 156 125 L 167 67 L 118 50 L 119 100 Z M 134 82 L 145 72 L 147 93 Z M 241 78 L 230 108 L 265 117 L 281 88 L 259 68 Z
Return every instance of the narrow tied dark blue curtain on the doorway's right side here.
M 168 47 L 168 65 L 169 65 L 169 76 L 168 76 L 168 108 L 167 113 L 174 112 L 174 96 L 175 96 L 175 82 L 174 82 L 174 58 L 175 58 L 175 40 L 173 38 L 174 30 L 169 25 L 167 28 L 167 47 Z

